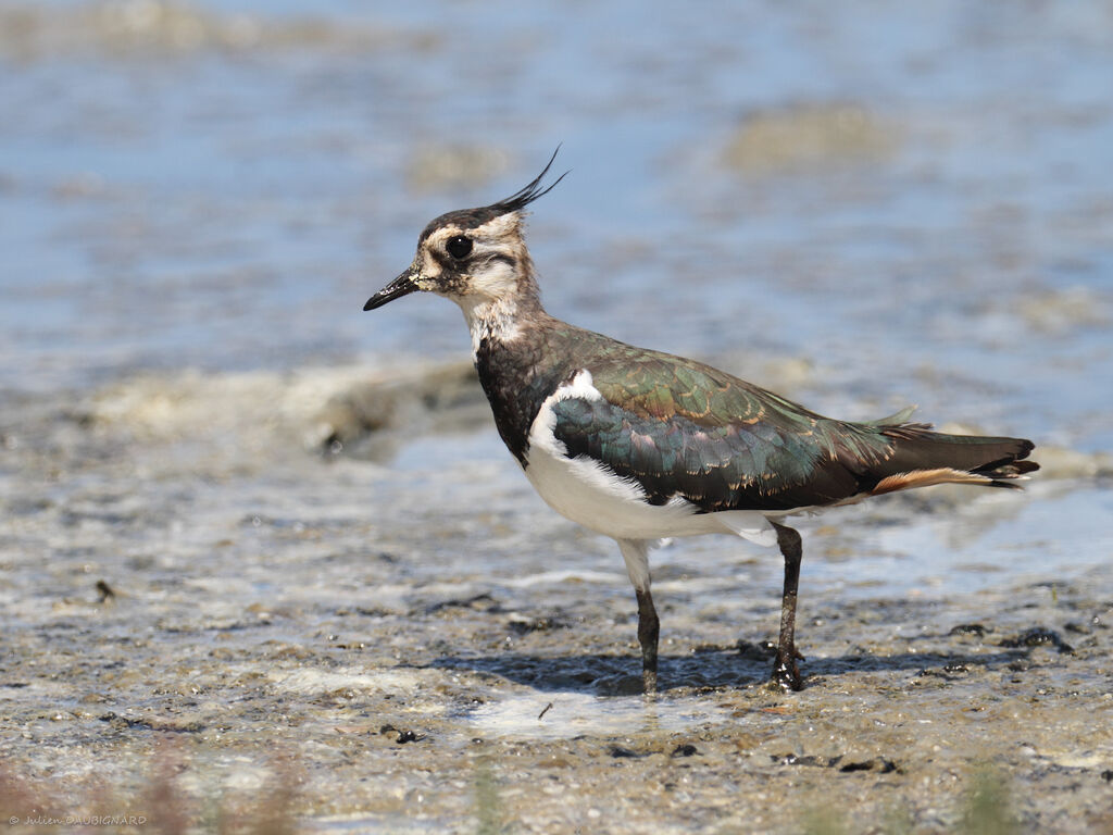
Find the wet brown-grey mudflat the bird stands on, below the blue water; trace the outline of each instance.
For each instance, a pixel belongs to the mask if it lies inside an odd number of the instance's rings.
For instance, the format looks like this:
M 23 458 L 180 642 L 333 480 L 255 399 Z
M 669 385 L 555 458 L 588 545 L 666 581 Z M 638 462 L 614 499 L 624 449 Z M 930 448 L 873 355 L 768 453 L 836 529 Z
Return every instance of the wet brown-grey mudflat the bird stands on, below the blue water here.
M 540 504 L 467 396 L 423 394 L 459 366 L 400 373 L 408 403 L 388 373 L 347 369 L 139 377 L 6 414 L 6 814 L 175 831 L 173 807 L 260 832 L 1113 825 L 1107 553 L 909 584 L 853 552 L 878 548 L 876 528 L 972 524 L 946 494 L 805 523 L 807 689 L 784 694 L 766 684 L 776 554 L 678 543 L 653 554 L 646 698 L 613 544 Z M 152 421 L 167 399 L 175 419 Z M 431 434 L 370 458 L 354 431 L 322 440 L 338 413 L 424 415 Z M 1085 501 L 1107 475 L 1070 478 Z

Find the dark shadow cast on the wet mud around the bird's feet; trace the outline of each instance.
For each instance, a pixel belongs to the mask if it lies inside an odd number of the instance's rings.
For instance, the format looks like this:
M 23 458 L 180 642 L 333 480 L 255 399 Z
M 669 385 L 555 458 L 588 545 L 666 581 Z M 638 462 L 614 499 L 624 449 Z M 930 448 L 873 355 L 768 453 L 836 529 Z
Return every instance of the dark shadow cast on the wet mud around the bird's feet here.
M 733 648 L 661 656 L 658 689 L 738 689 L 764 685 L 772 669 L 772 655 Z M 889 656 L 845 655 L 800 661 L 805 686 L 816 679 L 837 679 L 850 672 L 914 671 L 936 680 L 955 680 L 978 670 L 988 671 L 1024 657 L 1022 649 L 989 654 L 898 652 Z M 500 652 L 490 656 L 442 656 L 429 665 L 470 670 L 525 685 L 542 692 L 579 692 L 630 696 L 642 691 L 640 659 L 633 655 L 538 656 Z

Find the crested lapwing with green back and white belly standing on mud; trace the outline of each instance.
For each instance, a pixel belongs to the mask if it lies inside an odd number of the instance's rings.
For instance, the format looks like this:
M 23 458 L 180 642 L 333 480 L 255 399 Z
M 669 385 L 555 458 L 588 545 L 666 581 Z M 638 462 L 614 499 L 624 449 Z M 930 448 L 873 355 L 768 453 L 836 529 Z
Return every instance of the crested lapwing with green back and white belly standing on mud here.
M 455 302 L 499 434 L 558 513 L 618 542 L 638 603 L 642 688 L 657 690 L 660 619 L 649 552 L 707 533 L 778 547 L 785 561 L 770 686 L 800 690 L 796 605 L 802 558 L 795 514 L 900 490 L 957 483 L 1018 488 L 1032 441 L 944 434 L 910 422 L 826 418 L 695 360 L 636 347 L 551 316 L 524 238 L 525 209 L 560 147 L 510 197 L 457 209 L 421 233 L 411 265 L 367 299 L 415 292 Z

